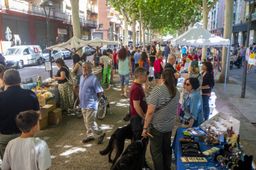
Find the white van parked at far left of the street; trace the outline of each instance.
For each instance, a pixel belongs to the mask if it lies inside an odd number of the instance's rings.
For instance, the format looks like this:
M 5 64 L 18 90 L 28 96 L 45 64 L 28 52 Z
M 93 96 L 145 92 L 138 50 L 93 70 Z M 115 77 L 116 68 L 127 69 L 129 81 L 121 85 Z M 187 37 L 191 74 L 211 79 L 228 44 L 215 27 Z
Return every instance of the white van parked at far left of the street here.
M 43 54 L 40 46 L 14 46 L 4 52 L 6 67 L 22 68 L 31 63 L 43 63 Z

